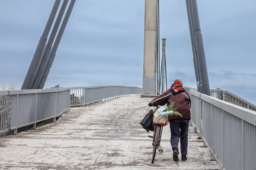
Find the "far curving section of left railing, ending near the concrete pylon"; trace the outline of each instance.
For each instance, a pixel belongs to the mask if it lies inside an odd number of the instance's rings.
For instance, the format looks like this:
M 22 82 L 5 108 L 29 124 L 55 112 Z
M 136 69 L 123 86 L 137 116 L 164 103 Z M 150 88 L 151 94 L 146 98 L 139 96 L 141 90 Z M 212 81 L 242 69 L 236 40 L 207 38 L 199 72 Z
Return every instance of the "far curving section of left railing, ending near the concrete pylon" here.
M 70 106 L 89 105 L 119 96 L 142 94 L 142 88 L 129 86 L 73 87 L 70 89 Z

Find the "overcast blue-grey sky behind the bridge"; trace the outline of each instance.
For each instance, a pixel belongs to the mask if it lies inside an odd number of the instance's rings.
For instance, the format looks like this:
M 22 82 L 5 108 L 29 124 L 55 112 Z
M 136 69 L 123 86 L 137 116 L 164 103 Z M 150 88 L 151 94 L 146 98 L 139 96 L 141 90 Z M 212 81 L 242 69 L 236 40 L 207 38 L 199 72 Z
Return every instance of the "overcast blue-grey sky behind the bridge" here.
M 0 1 L 0 83 L 21 86 L 54 0 Z M 256 104 L 256 2 L 198 0 L 211 88 Z M 142 86 L 144 0 L 77 0 L 45 88 Z M 185 0 L 160 0 L 168 86 L 196 87 Z

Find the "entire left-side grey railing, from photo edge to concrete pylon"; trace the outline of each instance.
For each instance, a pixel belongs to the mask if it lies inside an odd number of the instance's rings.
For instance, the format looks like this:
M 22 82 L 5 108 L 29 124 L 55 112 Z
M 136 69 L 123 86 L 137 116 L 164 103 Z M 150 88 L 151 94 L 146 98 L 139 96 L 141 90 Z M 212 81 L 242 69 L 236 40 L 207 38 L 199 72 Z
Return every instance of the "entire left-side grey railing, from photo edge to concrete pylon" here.
M 70 106 L 88 105 L 119 96 L 142 94 L 142 88 L 96 86 L 0 91 L 0 132 L 61 116 Z

